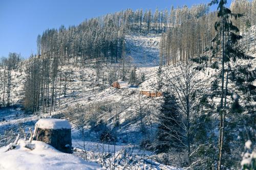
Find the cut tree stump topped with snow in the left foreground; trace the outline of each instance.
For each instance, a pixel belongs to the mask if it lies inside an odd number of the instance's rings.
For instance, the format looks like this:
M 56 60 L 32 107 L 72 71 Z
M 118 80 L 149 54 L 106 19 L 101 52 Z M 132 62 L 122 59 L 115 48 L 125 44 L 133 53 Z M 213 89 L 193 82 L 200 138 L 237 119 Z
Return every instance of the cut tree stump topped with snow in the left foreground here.
M 71 125 L 68 120 L 39 119 L 35 124 L 34 140 L 48 143 L 61 152 L 72 153 Z

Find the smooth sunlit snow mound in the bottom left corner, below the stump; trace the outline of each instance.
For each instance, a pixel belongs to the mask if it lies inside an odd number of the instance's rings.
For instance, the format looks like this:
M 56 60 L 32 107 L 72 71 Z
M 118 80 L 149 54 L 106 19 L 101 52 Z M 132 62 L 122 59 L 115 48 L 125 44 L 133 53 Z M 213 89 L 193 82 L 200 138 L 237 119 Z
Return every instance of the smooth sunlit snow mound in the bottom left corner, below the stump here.
M 100 170 L 99 164 L 87 162 L 73 154 L 66 154 L 54 149 L 51 145 L 32 141 L 32 151 L 25 148 L 28 141 L 19 140 L 16 148 L 0 148 L 0 169 L 86 169 Z M 6 152 L 7 151 L 7 152 Z

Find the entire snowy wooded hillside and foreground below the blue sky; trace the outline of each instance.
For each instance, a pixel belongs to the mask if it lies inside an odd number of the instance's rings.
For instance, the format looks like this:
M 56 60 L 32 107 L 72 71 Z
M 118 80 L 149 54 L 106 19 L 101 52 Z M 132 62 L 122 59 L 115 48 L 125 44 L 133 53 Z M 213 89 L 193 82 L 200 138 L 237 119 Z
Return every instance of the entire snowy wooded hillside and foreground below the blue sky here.
M 35 43 L 0 59 L 0 169 L 256 169 L 256 0 L 126 9 Z

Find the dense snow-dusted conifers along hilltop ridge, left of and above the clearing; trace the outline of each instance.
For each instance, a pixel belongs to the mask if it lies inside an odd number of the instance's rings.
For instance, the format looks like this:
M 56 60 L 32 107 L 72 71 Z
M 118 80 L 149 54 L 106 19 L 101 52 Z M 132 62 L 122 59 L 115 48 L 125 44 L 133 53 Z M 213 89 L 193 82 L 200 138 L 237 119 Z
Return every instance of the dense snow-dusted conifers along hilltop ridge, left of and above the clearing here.
M 163 33 L 181 25 L 188 13 L 190 17 L 201 17 L 208 12 L 206 5 L 193 6 L 191 9 L 167 9 L 133 11 L 127 9 L 114 14 L 83 21 L 78 26 L 58 30 L 48 29 L 38 35 L 38 55 L 57 56 L 61 61 L 72 60 L 89 64 L 101 61 L 106 65 L 117 62 L 125 50 L 124 36 L 127 32 Z

